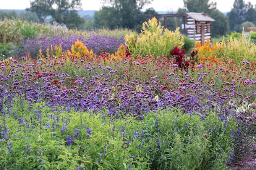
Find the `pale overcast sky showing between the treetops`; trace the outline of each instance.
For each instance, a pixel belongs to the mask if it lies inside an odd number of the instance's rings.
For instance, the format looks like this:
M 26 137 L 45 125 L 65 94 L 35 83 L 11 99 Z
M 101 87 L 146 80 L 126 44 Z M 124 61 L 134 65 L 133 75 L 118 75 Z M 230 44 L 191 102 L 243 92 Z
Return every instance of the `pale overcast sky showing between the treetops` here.
M 0 9 L 24 10 L 30 7 L 29 0 L 0 0 Z M 222 12 L 228 12 L 233 6 L 235 0 L 215 0 L 217 8 Z M 256 4 L 256 0 L 245 0 L 245 3 L 251 2 Z M 99 10 L 102 6 L 101 0 L 82 0 L 83 10 Z M 143 10 L 153 7 L 156 11 L 177 11 L 183 7 L 183 0 L 153 0 L 151 5 L 146 6 Z

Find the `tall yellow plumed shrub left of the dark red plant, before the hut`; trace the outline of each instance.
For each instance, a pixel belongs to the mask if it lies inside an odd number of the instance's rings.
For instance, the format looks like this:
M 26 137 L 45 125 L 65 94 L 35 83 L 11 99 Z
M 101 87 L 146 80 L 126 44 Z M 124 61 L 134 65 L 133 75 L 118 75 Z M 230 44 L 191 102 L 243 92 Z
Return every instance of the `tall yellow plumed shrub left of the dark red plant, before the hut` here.
M 164 29 L 157 23 L 156 18 L 149 19 L 142 25 L 141 34 L 135 40 L 135 35 L 125 35 L 125 45 L 132 55 L 165 55 L 171 57 L 170 51 L 175 46 L 181 48 L 184 45 L 184 37 L 180 34 L 179 28 L 174 32 Z

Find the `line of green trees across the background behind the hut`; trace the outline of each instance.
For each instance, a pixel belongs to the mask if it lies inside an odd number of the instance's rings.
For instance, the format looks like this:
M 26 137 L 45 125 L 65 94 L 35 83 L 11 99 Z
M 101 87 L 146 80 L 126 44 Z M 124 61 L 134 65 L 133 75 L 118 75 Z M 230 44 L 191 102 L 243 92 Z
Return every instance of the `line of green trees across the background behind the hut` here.
M 26 13 L 22 13 L 21 18 L 43 23 L 47 16 L 51 16 L 51 22 L 66 24 L 70 29 L 129 28 L 139 32 L 144 22 L 144 14 L 157 14 L 154 8 L 141 11 L 152 1 L 102 0 L 103 6 L 92 18 L 79 16 L 77 10 L 81 10 L 81 0 L 31 0 L 31 7 L 26 9 Z M 183 0 L 183 2 L 183 8 L 179 8 L 177 13 L 203 12 L 215 19 L 215 22 L 212 22 L 213 37 L 220 37 L 233 31 L 241 32 L 243 27 L 256 25 L 256 7 L 250 2 L 245 3 L 244 0 L 234 0 L 233 7 L 227 14 L 217 9 L 214 0 Z M 169 11 L 169 13 L 173 12 Z M 13 11 L 0 11 L 0 18 L 3 19 L 4 16 L 16 17 L 17 14 Z M 159 20 L 161 21 L 161 18 Z M 182 23 L 182 18 L 168 18 L 167 27 L 173 30 L 175 27 L 181 27 Z

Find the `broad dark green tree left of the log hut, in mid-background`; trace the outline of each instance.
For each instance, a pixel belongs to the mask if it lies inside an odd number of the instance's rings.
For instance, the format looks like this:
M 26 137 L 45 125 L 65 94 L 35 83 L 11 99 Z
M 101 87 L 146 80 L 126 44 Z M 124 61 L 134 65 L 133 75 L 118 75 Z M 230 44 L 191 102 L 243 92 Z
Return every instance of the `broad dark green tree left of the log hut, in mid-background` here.
M 102 2 L 104 6 L 96 13 L 95 25 L 104 22 L 105 25 L 108 24 L 108 27 L 111 28 L 114 21 L 116 26 L 136 29 L 138 25 L 141 26 L 144 19 L 141 9 L 151 3 L 152 0 L 102 0 Z M 99 16 L 106 20 L 99 21 Z

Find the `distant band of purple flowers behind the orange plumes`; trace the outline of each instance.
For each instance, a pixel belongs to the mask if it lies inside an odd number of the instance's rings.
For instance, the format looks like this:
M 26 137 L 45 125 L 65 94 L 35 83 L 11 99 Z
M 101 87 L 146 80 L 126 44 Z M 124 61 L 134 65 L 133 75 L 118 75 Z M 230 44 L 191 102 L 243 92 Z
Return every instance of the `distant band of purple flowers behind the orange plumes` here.
M 28 40 L 21 40 L 18 47 L 13 47 L 13 56 L 23 56 L 26 52 L 30 52 L 31 56 L 36 57 L 38 51 L 41 49 L 42 53 L 47 53 L 47 48 L 53 50 L 55 53 L 55 45 L 61 45 L 63 51 L 71 50 L 71 45 L 79 40 L 86 45 L 88 49 L 100 54 L 101 52 L 114 53 L 120 45 L 125 44 L 123 36 L 116 37 L 115 35 L 90 35 L 84 37 L 83 35 L 53 35 L 50 37 L 35 37 Z M 101 50 L 102 49 L 102 50 Z

